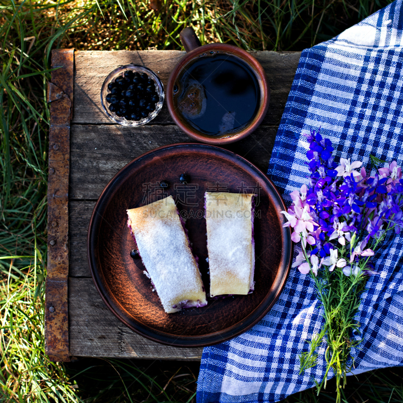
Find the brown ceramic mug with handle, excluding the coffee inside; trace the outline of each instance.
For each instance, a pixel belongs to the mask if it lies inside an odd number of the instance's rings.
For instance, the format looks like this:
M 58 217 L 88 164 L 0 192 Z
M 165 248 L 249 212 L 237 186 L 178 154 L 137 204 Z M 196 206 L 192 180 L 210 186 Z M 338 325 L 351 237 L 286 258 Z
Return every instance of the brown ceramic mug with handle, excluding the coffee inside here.
M 184 30 L 182 30 L 179 36 L 183 47 L 185 48 L 186 54 L 172 71 L 168 80 L 168 88 L 166 92 L 168 110 L 174 122 L 185 133 L 187 133 L 189 137 L 207 144 L 219 145 L 234 143 L 250 135 L 250 133 L 255 130 L 263 120 L 267 112 L 268 104 L 270 102 L 270 87 L 268 86 L 265 72 L 260 63 L 247 51 L 237 46 L 224 43 L 210 43 L 208 45 L 201 46 L 200 41 L 191 28 L 185 28 Z M 182 85 L 180 84 L 181 77 L 184 77 L 184 74 L 190 71 L 195 61 L 197 61 L 201 57 L 205 57 L 207 60 L 207 57 L 219 54 L 225 55 L 226 57 L 228 56 L 227 59 L 232 59 L 234 62 L 236 60 L 236 62 L 243 63 L 248 67 L 248 71 L 253 74 L 253 80 L 258 88 L 258 92 L 256 92 L 256 107 L 253 117 L 244 125 L 240 125 L 238 128 L 235 128 L 234 131 L 227 130 L 221 133 L 219 130 L 217 130 L 216 133 L 210 132 L 210 134 L 206 134 L 205 132 L 199 130 L 197 126 L 192 124 L 192 120 L 188 118 L 188 116 L 190 116 L 189 113 L 193 113 L 193 116 L 197 117 L 197 111 L 187 112 L 187 116 L 181 112 L 181 110 L 183 110 L 184 108 L 183 102 L 189 101 L 188 99 L 185 99 L 183 101 L 183 98 L 186 96 L 190 97 L 190 95 L 197 93 L 197 91 L 203 91 L 203 89 L 198 90 L 198 88 L 195 87 L 195 91 L 191 89 L 190 94 L 187 95 L 186 87 L 183 88 L 180 91 L 182 94 L 182 104 L 180 104 L 178 98 L 179 96 L 177 95 L 178 85 Z M 201 86 L 199 86 L 199 88 L 201 88 Z M 209 99 L 209 93 L 205 95 L 205 98 Z M 199 97 L 198 101 L 196 101 L 196 108 L 198 107 L 198 110 L 202 109 L 200 106 L 200 99 L 201 98 Z M 197 102 L 199 102 L 200 105 L 197 106 Z M 229 111 L 228 113 L 227 115 L 229 117 L 226 118 L 227 121 L 228 119 L 231 119 L 231 111 Z M 208 114 L 206 114 L 204 117 L 208 118 Z M 234 120 L 234 118 L 232 119 Z

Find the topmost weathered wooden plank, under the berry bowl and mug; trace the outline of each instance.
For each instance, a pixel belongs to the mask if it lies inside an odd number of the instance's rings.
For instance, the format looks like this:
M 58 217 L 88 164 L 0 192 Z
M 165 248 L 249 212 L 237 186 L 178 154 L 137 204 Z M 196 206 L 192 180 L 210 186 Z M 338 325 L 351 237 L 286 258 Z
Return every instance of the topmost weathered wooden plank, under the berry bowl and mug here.
M 75 53 L 73 123 L 113 123 L 101 106 L 101 86 L 107 75 L 119 65 L 145 65 L 160 77 L 166 88 L 168 77 L 184 52 L 146 51 L 77 51 Z M 278 125 L 297 69 L 300 52 L 252 52 L 262 64 L 271 88 L 271 101 L 263 125 Z M 153 124 L 173 123 L 164 103 Z

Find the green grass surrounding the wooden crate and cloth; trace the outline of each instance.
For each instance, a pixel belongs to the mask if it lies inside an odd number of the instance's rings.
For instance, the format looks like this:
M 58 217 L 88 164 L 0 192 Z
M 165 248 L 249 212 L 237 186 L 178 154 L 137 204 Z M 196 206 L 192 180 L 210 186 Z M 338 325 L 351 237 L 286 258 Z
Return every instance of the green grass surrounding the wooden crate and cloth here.
M 51 49 L 180 49 L 180 30 L 192 26 L 202 43 L 302 50 L 388 3 L 152 0 L 155 11 L 141 0 L 0 0 L 0 401 L 195 401 L 198 363 L 82 359 L 63 365 L 44 353 Z M 350 378 L 345 398 L 402 401 L 401 370 Z M 319 399 L 309 390 L 287 401 Z M 334 396 L 326 391 L 320 401 Z

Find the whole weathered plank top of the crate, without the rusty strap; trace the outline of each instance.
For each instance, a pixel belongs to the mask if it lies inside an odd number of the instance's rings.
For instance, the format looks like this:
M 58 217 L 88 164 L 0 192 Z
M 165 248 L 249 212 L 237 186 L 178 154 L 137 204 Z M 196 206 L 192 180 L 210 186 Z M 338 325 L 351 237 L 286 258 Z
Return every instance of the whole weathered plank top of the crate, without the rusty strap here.
M 163 346 L 124 326 L 105 306 L 87 262 L 88 224 L 98 196 L 124 165 L 154 148 L 191 140 L 173 124 L 164 105 L 150 123 L 124 127 L 109 120 L 100 105 L 105 77 L 122 64 L 142 64 L 166 86 L 183 55 L 180 51 L 80 51 L 75 53 L 74 111 L 69 186 L 69 338 L 70 355 L 199 360 L 202 349 Z M 254 52 L 271 87 L 268 113 L 248 138 L 229 146 L 266 171 L 300 53 Z

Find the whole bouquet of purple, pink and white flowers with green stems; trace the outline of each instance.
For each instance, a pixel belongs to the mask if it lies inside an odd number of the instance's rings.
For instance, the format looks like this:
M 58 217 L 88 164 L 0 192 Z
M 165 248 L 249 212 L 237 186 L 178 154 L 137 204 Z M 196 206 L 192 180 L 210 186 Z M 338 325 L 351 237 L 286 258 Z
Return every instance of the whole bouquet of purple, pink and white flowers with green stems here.
M 315 351 L 324 338 L 326 371 L 315 383 L 319 393 L 332 369 L 340 402 L 342 383 L 354 368 L 351 348 L 360 343 L 353 338 L 360 295 L 369 276 L 378 275 L 373 256 L 388 234 L 403 227 L 403 179 L 395 161 L 374 176 L 360 161 L 341 158 L 338 165 L 331 142 L 319 131 L 305 135 L 309 186 L 291 193 L 292 205 L 283 214 L 284 226 L 293 228 L 292 240 L 301 245 L 292 267 L 312 277 L 324 316 L 320 333 L 300 355 L 301 373 L 317 364 Z

